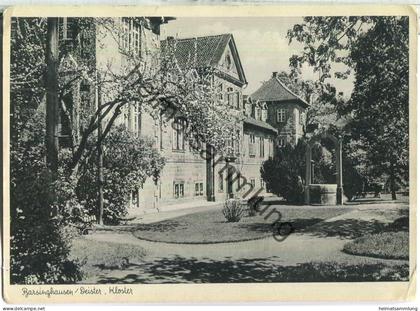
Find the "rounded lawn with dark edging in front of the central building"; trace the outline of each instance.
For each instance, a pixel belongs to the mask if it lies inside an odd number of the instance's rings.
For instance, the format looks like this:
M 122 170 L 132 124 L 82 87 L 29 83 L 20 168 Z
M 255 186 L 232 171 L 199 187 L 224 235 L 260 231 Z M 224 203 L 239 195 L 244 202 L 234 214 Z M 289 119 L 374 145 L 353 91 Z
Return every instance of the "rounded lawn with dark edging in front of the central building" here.
M 139 239 L 166 243 L 238 242 L 272 235 L 272 224 L 279 217 L 275 211 L 281 213 L 281 222 L 291 223 L 294 232 L 300 232 L 308 226 L 351 210 L 343 207 L 269 206 L 262 215 L 246 216 L 239 222 L 229 223 L 221 209 L 215 208 L 157 223 L 141 224 L 135 228 L 133 234 Z

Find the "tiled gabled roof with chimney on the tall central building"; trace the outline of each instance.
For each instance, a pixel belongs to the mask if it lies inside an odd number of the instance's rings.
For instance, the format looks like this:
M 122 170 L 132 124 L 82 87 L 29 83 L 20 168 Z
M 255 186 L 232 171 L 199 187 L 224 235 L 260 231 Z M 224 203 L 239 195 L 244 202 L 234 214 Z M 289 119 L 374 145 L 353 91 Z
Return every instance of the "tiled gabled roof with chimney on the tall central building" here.
M 214 36 L 174 39 L 168 37 L 162 41 L 162 50 L 165 51 L 170 40 L 175 44 L 175 58 L 181 68 L 195 62 L 198 68 L 216 68 L 229 45 L 240 80 L 246 84 L 245 72 L 239 59 L 238 50 L 232 34 Z M 194 57 L 197 57 L 194 59 Z

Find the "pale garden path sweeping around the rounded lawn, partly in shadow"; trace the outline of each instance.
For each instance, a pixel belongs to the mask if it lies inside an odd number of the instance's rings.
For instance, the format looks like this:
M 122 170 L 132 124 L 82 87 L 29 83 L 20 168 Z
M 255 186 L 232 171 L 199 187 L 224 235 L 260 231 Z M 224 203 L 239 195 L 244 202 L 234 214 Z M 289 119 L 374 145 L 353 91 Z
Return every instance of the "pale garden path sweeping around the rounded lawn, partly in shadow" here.
M 310 212 L 310 206 L 299 206 Z M 129 231 L 96 232 L 87 239 L 141 247 L 142 262 L 130 262 L 123 269 L 102 270 L 84 282 L 200 282 L 223 277 L 231 281 L 269 278 L 273 267 L 310 262 L 350 265 L 394 265 L 404 260 L 385 260 L 343 253 L 343 245 L 363 234 L 376 232 L 401 216 L 401 204 L 366 204 L 351 212 L 317 223 L 304 232 L 291 234 L 282 242 L 272 237 L 223 244 L 167 244 L 136 238 Z M 408 211 L 408 208 L 406 208 Z M 174 213 L 176 217 L 177 213 Z M 165 215 L 163 215 L 165 216 Z M 156 216 L 153 216 L 156 217 Z M 167 218 L 165 218 L 167 219 Z M 157 219 L 156 219 L 157 220 Z M 238 268 L 238 269 L 235 269 Z M 245 272 L 244 274 L 244 271 Z

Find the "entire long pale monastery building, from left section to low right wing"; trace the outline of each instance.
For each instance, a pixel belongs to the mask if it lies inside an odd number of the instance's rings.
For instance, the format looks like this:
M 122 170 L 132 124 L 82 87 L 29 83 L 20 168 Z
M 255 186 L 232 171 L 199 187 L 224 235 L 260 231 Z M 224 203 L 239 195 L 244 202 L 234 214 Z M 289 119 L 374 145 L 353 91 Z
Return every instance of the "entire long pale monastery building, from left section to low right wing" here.
M 117 38 L 109 34 L 106 26 L 91 23 L 95 35 L 87 39 L 78 36 L 78 40 L 84 40 L 78 46 L 89 47 L 89 53 L 79 49 L 73 53 L 71 61 L 77 61 L 78 57 L 90 57 L 96 68 L 109 68 L 118 73 L 126 66 L 125 52 L 129 51 L 136 53 L 153 70 L 159 66 L 162 47 L 174 40 L 160 39 L 160 26 L 170 19 L 115 19 L 115 24 L 122 29 Z M 63 40 L 71 36 L 71 24 L 71 19 L 61 20 Z M 130 214 L 158 210 L 168 205 L 181 207 L 191 202 L 200 205 L 206 201 L 222 201 L 243 194 L 250 197 L 252 193 L 264 192 L 260 167 L 263 161 L 272 156 L 277 129 L 267 123 L 267 107 L 245 99 L 242 94 L 247 80 L 233 36 L 222 34 L 176 40 L 175 57 L 180 67 L 187 65 L 192 55 L 196 55 L 197 69 L 214 70 L 213 81 L 219 100 L 224 100 L 234 113 L 242 116 L 237 126 L 238 132 L 235 133 L 240 139 L 232 142 L 232 154 L 215 154 L 211 159 L 206 159 L 191 147 L 182 130 L 171 126 L 174 120 L 162 122 L 142 111 L 136 103 L 127 105 L 115 125 L 124 124 L 135 135 L 152 138 L 154 147 L 166 159 L 160 179 L 154 182 L 149 178 L 138 191 L 131 194 Z M 112 98 L 112 94 L 108 90 L 95 90 L 89 87 L 89 83 L 81 82 L 71 97 L 69 100 L 75 106 L 83 102 L 94 108 L 98 98 L 106 100 L 106 97 Z M 63 124 L 62 132 L 65 128 Z

